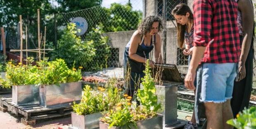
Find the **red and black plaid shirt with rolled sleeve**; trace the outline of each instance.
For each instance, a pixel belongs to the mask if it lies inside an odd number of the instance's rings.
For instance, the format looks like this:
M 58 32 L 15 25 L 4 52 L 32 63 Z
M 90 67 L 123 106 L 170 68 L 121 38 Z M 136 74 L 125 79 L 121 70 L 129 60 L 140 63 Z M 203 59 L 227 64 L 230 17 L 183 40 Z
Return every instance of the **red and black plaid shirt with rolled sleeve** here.
M 206 46 L 201 63 L 238 62 L 235 0 L 194 0 L 194 46 Z

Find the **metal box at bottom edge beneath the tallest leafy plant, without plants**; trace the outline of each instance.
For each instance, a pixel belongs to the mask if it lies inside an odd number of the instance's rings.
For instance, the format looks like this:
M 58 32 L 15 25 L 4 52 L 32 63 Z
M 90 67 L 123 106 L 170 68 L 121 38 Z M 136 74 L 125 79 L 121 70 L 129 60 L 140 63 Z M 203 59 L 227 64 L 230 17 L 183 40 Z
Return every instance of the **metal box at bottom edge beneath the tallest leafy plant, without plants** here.
M 163 116 L 159 115 L 157 117 L 138 121 L 136 123 L 137 123 L 137 129 L 163 129 Z M 100 129 L 108 129 L 108 127 L 109 127 L 109 124 L 104 124 L 103 122 L 100 122 Z M 121 129 L 121 127 L 111 127 L 110 129 Z M 132 127 L 131 129 L 136 129 L 136 128 Z

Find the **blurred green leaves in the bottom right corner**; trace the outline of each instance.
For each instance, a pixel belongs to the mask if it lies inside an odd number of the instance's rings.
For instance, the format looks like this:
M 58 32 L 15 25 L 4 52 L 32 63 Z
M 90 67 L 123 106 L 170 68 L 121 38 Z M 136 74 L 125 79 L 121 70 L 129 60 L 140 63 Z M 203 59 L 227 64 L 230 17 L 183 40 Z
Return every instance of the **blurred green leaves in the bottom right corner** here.
M 237 118 L 228 120 L 227 123 L 237 129 L 256 129 L 256 107 L 244 108 L 242 113 L 237 114 Z

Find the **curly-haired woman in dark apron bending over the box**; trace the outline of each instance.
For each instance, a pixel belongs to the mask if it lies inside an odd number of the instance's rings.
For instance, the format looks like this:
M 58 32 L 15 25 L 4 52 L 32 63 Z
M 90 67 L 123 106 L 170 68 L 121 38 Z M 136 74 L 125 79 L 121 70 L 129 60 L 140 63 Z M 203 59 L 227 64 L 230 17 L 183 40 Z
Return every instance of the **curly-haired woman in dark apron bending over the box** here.
M 123 61 L 124 61 L 124 79 L 126 93 L 133 97 L 140 86 L 140 78 L 145 74 L 145 63 L 149 59 L 149 53 L 155 46 L 155 61 L 162 62 L 161 55 L 161 37 L 158 34 L 163 29 L 163 22 L 158 16 L 147 16 L 143 19 L 133 33 L 130 41 L 126 45 Z M 154 46 L 153 46 L 154 45 Z M 149 66 L 154 68 L 155 62 L 149 60 Z M 128 70 L 129 69 L 129 70 Z M 137 101 L 137 104 L 138 101 Z

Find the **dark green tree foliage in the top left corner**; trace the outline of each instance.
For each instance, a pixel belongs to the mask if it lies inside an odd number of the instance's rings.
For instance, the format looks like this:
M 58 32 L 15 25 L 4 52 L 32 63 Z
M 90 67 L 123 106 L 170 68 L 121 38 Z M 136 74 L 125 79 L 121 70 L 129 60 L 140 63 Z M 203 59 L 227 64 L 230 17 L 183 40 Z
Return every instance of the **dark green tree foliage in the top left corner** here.
M 29 23 L 37 21 L 37 9 L 40 9 L 41 18 L 52 12 L 48 0 L 0 0 L 0 26 L 14 26 L 19 22 L 19 15 Z M 26 21 L 27 22 L 27 21 Z

